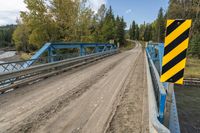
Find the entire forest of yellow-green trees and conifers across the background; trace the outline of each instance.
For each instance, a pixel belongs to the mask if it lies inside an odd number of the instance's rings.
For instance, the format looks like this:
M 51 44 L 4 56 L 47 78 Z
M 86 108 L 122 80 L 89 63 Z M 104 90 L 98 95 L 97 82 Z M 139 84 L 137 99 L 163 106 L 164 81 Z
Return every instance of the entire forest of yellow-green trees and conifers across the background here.
M 25 0 L 28 11 L 21 12 L 17 25 L 0 27 L 0 47 L 15 46 L 34 52 L 45 42 L 99 42 L 126 45 L 126 39 L 164 42 L 167 19 L 192 19 L 188 53 L 200 58 L 200 1 L 169 0 L 152 23 L 137 24 L 128 31 L 123 16 L 101 5 L 94 12 L 87 0 Z M 67 7 L 67 8 L 66 8 Z

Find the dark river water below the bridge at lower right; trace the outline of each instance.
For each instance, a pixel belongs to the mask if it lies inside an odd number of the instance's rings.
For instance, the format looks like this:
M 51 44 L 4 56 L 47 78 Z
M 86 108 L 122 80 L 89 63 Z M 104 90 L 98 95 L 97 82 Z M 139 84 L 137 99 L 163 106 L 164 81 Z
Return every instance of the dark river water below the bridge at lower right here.
M 200 133 L 200 87 L 175 86 L 181 133 Z

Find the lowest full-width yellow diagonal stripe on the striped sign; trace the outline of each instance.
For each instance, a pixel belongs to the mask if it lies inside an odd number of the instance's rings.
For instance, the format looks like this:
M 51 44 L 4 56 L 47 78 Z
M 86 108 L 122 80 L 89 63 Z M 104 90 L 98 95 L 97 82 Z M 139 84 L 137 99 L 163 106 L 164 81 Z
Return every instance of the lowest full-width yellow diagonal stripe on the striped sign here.
M 169 69 L 167 72 L 161 75 L 160 81 L 166 82 L 169 78 L 171 78 L 173 75 L 178 73 L 180 70 L 182 70 L 185 67 L 186 58 L 180 61 L 177 65 Z

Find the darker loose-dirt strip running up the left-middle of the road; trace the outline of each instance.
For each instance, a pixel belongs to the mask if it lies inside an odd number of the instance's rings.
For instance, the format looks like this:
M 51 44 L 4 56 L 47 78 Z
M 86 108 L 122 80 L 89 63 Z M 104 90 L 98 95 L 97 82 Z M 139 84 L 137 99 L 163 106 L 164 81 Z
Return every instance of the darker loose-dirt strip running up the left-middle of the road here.
M 80 97 L 84 92 L 86 92 L 90 86 L 96 83 L 99 79 L 101 79 L 110 69 L 113 69 L 116 65 L 118 65 L 121 60 L 127 58 L 129 56 L 123 56 L 110 66 L 106 67 L 102 71 L 98 73 L 96 77 L 93 77 L 86 82 L 81 83 L 76 88 L 70 90 L 69 92 L 63 94 L 58 99 L 54 100 L 50 104 L 41 108 L 37 112 L 34 112 L 29 117 L 24 119 L 20 124 L 11 127 L 7 132 L 10 133 L 18 133 L 18 132 L 34 132 L 34 130 L 38 129 L 40 126 L 44 125 L 45 122 L 53 117 L 56 113 L 66 107 L 71 101 Z

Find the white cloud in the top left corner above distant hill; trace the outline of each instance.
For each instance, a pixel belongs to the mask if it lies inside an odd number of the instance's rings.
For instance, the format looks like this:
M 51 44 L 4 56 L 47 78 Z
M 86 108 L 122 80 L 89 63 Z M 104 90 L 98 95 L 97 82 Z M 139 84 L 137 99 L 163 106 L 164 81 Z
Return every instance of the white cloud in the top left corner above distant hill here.
M 20 11 L 25 11 L 24 0 L 0 0 L 0 25 L 15 24 Z

